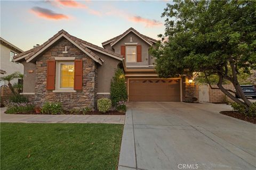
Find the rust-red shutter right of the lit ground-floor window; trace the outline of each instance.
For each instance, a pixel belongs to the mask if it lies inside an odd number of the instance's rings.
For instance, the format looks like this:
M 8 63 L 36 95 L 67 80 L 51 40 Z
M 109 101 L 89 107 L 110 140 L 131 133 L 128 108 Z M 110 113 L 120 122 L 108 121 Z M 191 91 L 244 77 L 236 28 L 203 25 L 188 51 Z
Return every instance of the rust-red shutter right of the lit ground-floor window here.
M 83 84 L 83 61 L 75 60 L 74 90 L 82 90 Z

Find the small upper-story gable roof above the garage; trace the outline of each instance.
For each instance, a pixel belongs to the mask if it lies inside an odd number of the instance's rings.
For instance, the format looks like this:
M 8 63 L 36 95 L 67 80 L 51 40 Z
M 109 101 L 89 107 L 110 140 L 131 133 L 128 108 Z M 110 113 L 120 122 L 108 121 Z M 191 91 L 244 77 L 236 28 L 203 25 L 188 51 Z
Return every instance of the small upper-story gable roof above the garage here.
M 135 33 L 135 35 L 139 36 L 142 40 L 144 40 L 146 43 L 148 43 L 149 45 L 152 45 L 153 43 L 156 43 L 157 40 L 154 38 L 150 38 L 148 36 L 142 35 L 140 32 L 138 32 L 137 30 L 135 30 L 134 28 L 129 28 L 128 30 L 126 30 L 124 33 L 122 33 L 119 36 L 116 36 L 114 38 L 111 38 L 103 43 L 102 46 L 105 46 L 107 44 L 110 44 L 111 46 L 115 45 L 119 40 L 121 40 L 124 36 L 126 36 L 128 33 L 133 32 Z

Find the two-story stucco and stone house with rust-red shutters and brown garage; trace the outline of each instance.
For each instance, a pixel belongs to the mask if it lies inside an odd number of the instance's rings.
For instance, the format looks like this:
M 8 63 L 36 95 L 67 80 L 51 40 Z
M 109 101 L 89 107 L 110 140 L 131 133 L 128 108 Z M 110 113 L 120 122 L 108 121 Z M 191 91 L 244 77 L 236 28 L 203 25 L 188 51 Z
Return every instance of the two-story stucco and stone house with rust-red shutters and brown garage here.
M 36 106 L 60 101 L 65 108 L 95 108 L 97 99 L 110 97 L 117 67 L 125 71 L 129 101 L 182 101 L 185 77 L 157 77 L 149 54 L 155 43 L 130 28 L 101 48 L 61 30 L 14 61 L 24 65 L 23 95 L 33 98 Z

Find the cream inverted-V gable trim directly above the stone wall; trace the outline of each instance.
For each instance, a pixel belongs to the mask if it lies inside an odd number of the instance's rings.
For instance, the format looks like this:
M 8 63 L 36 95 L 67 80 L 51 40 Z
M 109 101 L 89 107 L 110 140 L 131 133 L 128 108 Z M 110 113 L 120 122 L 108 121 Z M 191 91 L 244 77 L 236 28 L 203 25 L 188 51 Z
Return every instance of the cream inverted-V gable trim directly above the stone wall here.
M 53 39 L 51 41 L 51 43 L 47 44 L 46 46 L 44 46 L 41 50 L 39 50 L 38 52 L 36 52 L 33 56 L 31 56 L 30 58 L 28 58 L 27 63 L 30 62 L 31 60 L 33 60 L 36 56 L 38 56 L 39 54 L 41 54 L 44 50 L 46 50 L 47 48 L 49 48 L 51 45 L 53 45 L 56 41 L 58 41 L 61 37 L 65 37 L 67 40 L 69 40 L 72 44 L 74 44 L 77 48 L 81 49 L 82 52 L 84 52 L 85 54 L 87 54 L 89 57 L 91 57 L 95 62 L 99 63 L 100 65 L 102 65 L 102 62 L 100 60 L 97 60 L 95 57 L 93 57 L 90 53 L 86 52 L 85 49 L 83 49 L 82 47 L 80 47 L 79 45 L 77 45 L 75 43 L 75 41 L 71 40 L 69 37 L 67 37 L 65 34 L 61 33 L 61 35 L 59 35 L 58 37 L 56 37 L 55 39 Z

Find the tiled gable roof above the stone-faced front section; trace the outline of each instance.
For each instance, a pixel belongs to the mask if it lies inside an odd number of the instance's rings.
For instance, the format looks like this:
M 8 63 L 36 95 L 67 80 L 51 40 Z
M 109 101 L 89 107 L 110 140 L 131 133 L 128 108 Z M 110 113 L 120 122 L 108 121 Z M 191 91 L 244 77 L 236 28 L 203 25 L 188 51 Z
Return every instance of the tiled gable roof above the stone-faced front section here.
M 76 38 L 74 36 L 69 35 L 68 32 L 65 30 L 60 30 L 57 34 L 55 34 L 52 38 L 47 40 L 44 44 L 37 46 L 35 48 L 32 48 L 30 50 L 27 50 L 26 52 L 23 52 L 17 56 L 14 57 L 14 61 L 20 61 L 25 59 L 27 62 L 30 62 L 33 60 L 36 56 L 43 53 L 47 48 L 49 48 L 51 45 L 53 45 L 56 41 L 58 41 L 60 38 L 66 38 L 69 40 L 72 44 L 74 44 L 77 48 L 81 49 L 85 54 L 87 54 L 89 57 L 91 57 L 95 62 L 102 65 L 104 62 L 98 55 L 94 54 L 91 49 L 97 50 L 100 53 L 106 54 L 108 56 L 114 57 L 118 60 L 123 60 L 123 56 L 110 52 L 109 50 L 106 50 L 104 48 L 95 46 L 91 43 L 88 43 L 87 41 L 84 41 L 82 39 Z M 90 48 L 90 49 L 89 49 Z

